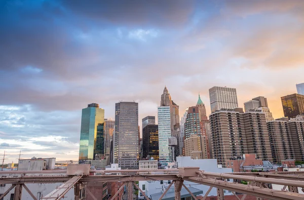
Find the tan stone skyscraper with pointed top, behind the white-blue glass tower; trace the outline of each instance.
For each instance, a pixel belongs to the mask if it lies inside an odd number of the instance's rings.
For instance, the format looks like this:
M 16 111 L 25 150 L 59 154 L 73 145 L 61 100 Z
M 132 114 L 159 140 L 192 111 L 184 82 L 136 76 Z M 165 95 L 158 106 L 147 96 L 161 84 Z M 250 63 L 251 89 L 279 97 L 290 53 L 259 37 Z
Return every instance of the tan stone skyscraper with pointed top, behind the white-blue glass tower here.
M 171 136 L 176 137 L 177 141 L 179 141 L 179 106 L 171 99 L 171 95 L 169 94 L 167 87 L 165 87 L 163 94 L 161 95 L 161 106 L 170 107 Z M 180 145 L 178 144 L 178 146 Z M 180 154 L 179 147 L 175 150 L 175 156 L 178 156 Z

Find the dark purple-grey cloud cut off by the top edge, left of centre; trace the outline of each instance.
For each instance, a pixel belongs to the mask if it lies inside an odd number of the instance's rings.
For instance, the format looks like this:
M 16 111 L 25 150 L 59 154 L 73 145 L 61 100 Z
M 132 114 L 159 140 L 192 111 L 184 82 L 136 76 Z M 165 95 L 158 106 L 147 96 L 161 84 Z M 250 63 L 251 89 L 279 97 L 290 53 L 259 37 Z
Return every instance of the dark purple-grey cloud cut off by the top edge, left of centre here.
M 98 1 L 63 0 L 62 5 L 74 15 L 124 26 L 184 25 L 195 10 L 195 1 Z

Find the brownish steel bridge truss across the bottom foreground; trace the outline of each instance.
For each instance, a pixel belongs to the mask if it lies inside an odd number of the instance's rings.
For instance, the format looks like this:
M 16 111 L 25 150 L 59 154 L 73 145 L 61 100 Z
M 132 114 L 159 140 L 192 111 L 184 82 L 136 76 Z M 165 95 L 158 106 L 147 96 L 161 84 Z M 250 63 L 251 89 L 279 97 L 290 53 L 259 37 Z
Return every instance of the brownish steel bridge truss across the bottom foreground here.
M 233 179 L 233 182 L 227 181 L 227 179 Z M 0 172 L 0 184 L 12 184 L 12 186 L 0 196 L 0 199 L 15 188 L 14 200 L 21 200 L 22 188 L 24 188 L 34 200 L 37 200 L 27 188 L 26 183 L 63 183 L 48 195 L 42 196 L 41 199 L 61 199 L 73 188 L 75 199 L 78 200 L 80 189 L 85 188 L 88 195 L 97 200 L 96 196 L 86 187 L 89 182 L 124 182 L 118 192 L 114 196 L 111 196 L 111 200 L 115 199 L 125 186 L 129 191 L 128 199 L 133 199 L 133 186 L 135 186 L 146 199 L 149 199 L 144 191 L 135 183 L 135 181 L 145 180 L 172 180 L 160 199 L 162 199 L 173 184 L 175 188 L 175 199 L 180 199 L 182 187 L 184 187 L 194 199 L 197 199 L 183 184 L 184 181 L 210 186 L 209 190 L 204 194 L 203 200 L 207 198 L 212 188 L 217 188 L 217 199 L 219 200 L 224 199 L 224 189 L 231 190 L 238 200 L 244 200 L 246 195 L 256 196 L 257 199 L 304 199 L 304 194 L 298 193 L 298 188 L 304 188 L 303 172 L 211 173 L 200 171 L 199 168 L 193 167 L 170 170 L 91 170 L 89 173 L 79 173 L 78 171 L 78 173 L 72 174 L 66 170 L 46 170 L 39 172 L 2 171 Z M 247 181 L 248 184 L 244 185 L 239 183 L 241 180 Z M 282 190 L 275 190 L 269 188 L 269 184 L 284 185 L 284 187 Z M 287 187 L 289 189 L 287 189 Z M 243 193 L 244 195 L 240 198 L 236 195 L 236 192 Z

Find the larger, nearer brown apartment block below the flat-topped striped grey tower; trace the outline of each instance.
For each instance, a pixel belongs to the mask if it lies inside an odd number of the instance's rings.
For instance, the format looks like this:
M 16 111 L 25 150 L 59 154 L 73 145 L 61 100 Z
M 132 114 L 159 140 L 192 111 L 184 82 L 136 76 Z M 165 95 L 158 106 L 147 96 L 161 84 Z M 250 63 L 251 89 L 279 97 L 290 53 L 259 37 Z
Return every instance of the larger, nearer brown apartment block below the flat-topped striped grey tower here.
M 265 114 L 260 110 L 221 109 L 210 114 L 213 158 L 223 167 L 231 157 L 254 153 L 272 161 Z

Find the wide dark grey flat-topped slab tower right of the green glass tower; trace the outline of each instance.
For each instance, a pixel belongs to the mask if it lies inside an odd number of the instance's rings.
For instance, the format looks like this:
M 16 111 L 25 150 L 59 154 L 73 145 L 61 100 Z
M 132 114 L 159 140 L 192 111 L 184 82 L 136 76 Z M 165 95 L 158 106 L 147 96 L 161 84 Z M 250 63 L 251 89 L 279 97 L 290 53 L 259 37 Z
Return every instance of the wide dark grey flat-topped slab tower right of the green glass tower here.
M 138 168 L 138 103 L 115 104 L 114 157 L 122 169 Z

